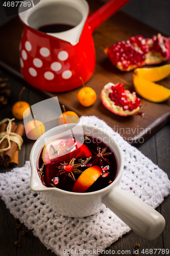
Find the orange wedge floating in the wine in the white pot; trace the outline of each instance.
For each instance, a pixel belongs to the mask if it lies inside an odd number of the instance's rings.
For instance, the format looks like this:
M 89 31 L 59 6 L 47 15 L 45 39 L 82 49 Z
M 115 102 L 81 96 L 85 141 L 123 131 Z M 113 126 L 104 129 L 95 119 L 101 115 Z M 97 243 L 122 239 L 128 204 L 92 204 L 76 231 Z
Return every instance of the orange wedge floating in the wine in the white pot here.
M 83 193 L 89 188 L 103 173 L 101 167 L 94 165 L 84 170 L 75 182 L 72 192 Z

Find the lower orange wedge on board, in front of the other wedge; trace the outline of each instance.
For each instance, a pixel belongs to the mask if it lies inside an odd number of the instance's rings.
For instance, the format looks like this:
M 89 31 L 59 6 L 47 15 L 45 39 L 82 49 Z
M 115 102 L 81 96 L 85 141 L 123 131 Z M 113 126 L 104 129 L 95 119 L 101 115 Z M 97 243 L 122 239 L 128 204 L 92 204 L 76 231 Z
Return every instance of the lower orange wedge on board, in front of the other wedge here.
M 170 90 L 157 83 L 143 79 L 141 76 L 133 74 L 133 84 L 135 91 L 152 102 L 162 102 L 170 98 Z

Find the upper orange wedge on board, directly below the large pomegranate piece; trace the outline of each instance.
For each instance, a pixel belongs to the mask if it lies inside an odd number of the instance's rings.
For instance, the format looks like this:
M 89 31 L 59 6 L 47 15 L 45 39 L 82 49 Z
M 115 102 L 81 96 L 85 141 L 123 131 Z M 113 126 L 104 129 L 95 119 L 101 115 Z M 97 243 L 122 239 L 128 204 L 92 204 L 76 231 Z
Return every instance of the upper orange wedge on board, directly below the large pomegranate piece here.
M 156 68 L 138 68 L 134 70 L 135 74 L 142 78 L 156 82 L 164 79 L 170 74 L 170 64 Z

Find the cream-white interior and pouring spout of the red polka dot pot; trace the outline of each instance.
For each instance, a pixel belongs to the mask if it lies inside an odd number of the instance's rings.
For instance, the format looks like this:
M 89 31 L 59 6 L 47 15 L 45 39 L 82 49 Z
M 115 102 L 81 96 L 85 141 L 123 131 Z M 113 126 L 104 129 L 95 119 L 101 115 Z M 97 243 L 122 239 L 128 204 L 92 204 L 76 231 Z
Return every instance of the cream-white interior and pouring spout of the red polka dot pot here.
M 47 34 L 70 42 L 71 45 L 76 45 L 79 42 L 88 13 L 89 6 L 85 0 L 41 0 L 34 8 L 24 12 L 20 10 L 18 15 L 24 24 L 33 29 L 48 24 L 74 26 L 64 32 Z

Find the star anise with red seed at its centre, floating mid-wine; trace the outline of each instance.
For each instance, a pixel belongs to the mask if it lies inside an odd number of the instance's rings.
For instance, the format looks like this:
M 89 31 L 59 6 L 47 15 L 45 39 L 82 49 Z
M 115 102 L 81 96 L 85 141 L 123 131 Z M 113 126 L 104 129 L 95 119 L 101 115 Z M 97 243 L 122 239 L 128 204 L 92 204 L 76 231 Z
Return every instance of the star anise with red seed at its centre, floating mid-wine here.
M 72 158 L 71 161 L 69 163 L 61 163 L 61 165 L 57 168 L 59 168 L 59 172 L 57 174 L 57 176 L 65 174 L 68 175 L 69 177 L 71 177 L 71 179 L 76 180 L 74 174 L 81 174 L 82 171 L 78 170 L 77 167 L 81 166 L 82 163 L 77 163 L 75 164 L 75 158 Z M 64 177 L 64 179 L 65 179 Z

